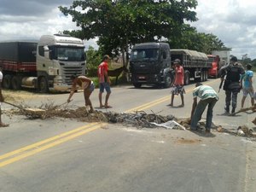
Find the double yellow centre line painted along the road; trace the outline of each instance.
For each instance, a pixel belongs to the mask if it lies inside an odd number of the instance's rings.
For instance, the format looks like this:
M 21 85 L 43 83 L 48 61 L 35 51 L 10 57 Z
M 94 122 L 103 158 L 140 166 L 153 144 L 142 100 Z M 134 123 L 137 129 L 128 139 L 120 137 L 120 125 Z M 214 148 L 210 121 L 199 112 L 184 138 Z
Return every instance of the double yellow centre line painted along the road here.
M 208 84 L 212 84 L 212 82 L 209 82 Z M 189 90 L 186 90 L 186 92 L 190 92 L 192 90 L 194 90 L 194 88 L 190 88 Z M 138 106 L 137 108 L 131 108 L 125 111 L 125 113 L 142 111 L 144 109 L 151 108 L 161 102 L 166 102 L 169 99 L 170 99 L 170 96 L 164 96 L 160 99 L 154 100 L 153 102 L 147 102 L 141 106 Z M 100 127 L 102 127 L 103 125 L 107 125 L 107 123 L 90 123 L 89 125 L 81 126 L 72 131 L 67 131 L 67 132 L 61 133 L 60 135 L 56 135 L 55 137 L 49 137 L 48 139 L 45 139 L 41 142 L 33 143 L 31 145 L 27 145 L 24 148 L 19 148 L 7 154 L 0 155 L 0 160 L 2 160 L 0 162 L 0 167 L 7 166 L 18 160 L 22 160 L 28 156 L 31 156 L 32 154 L 38 154 L 39 152 L 44 151 L 45 149 L 53 148 L 56 145 L 65 143 L 69 140 L 72 140 L 75 137 L 82 136 L 90 131 L 95 131 Z M 7 160 L 4 160 L 4 159 L 7 159 Z

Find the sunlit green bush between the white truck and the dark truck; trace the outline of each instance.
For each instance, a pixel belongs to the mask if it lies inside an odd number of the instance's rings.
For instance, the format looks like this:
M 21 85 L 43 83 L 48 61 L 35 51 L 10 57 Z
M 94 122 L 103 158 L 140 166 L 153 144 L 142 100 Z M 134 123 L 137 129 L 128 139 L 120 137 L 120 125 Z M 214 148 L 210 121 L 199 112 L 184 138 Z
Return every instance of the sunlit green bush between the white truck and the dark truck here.
M 100 50 L 95 50 L 93 47 L 89 47 L 86 51 L 86 64 L 87 64 L 87 76 L 96 77 L 97 69 L 102 62 L 102 53 Z

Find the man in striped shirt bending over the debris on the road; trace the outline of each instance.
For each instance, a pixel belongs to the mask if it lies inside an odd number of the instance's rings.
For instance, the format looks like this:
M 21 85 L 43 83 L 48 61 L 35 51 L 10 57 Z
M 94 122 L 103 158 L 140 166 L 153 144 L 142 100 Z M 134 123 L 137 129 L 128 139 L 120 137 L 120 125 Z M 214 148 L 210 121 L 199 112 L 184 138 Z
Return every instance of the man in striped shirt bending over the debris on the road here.
M 200 102 L 198 103 L 197 96 L 201 98 Z M 208 106 L 206 132 L 210 133 L 212 127 L 213 108 L 216 102 L 218 102 L 218 94 L 209 85 L 197 83 L 195 84 L 195 89 L 193 90 L 193 97 L 194 102 L 190 116 L 190 129 L 191 131 L 197 130 L 197 124 L 201 120 L 201 115 Z

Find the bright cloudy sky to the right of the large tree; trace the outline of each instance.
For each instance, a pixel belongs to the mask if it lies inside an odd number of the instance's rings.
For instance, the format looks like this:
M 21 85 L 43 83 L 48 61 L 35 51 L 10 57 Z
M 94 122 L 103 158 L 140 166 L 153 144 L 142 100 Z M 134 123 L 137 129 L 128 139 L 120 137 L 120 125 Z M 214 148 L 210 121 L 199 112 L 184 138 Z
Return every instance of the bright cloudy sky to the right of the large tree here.
M 198 0 L 198 21 L 192 23 L 198 32 L 216 35 L 227 47 L 232 48 L 231 54 L 241 58 L 248 54 L 256 58 L 256 2 L 251 0 Z

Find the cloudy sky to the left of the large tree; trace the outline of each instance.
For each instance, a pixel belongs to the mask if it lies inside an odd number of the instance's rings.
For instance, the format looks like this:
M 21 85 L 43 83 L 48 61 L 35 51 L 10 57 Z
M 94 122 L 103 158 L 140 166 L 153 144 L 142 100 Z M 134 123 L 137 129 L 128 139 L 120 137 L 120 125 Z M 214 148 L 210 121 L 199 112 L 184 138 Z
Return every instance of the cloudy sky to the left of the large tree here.
M 3 1 L 3 2 L 2 2 Z M 0 41 L 38 40 L 44 34 L 78 29 L 71 16 L 65 16 L 58 7 L 72 5 L 73 0 L 1 0 Z M 85 41 L 97 48 L 95 41 Z

